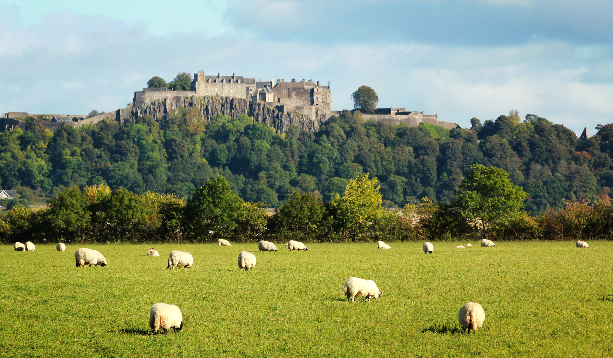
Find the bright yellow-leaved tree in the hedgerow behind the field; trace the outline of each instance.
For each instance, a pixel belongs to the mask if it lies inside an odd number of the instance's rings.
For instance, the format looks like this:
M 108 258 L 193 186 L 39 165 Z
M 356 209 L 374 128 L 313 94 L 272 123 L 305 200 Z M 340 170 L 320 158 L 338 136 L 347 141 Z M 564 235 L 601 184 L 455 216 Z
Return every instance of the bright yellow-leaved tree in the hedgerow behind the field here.
M 342 198 L 337 194 L 332 201 L 341 235 L 355 240 L 383 215 L 381 187 L 377 182 L 376 177 L 368 179 L 368 173 L 362 174 L 362 177 L 349 180 Z

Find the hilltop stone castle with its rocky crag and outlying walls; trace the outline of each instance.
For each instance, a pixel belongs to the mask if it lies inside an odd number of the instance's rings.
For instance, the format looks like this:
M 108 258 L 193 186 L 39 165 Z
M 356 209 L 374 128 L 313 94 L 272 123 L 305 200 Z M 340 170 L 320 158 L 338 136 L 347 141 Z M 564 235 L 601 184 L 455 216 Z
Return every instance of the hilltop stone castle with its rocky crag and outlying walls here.
M 215 98 L 221 100 L 215 101 Z M 204 99 L 204 102 L 203 102 Z M 298 125 L 301 130 L 316 131 L 319 125 L 332 115 L 332 90 L 330 82 L 322 85 L 313 80 L 285 81 L 256 80 L 243 76 L 221 76 L 221 73 L 207 75 L 204 71 L 194 74 L 189 91 L 174 91 L 162 87 L 143 88 L 134 92 L 134 99 L 128 107 L 97 115 L 88 119 L 82 117 L 54 117 L 55 122 L 37 122 L 55 131 L 60 125 L 81 126 L 110 119 L 123 122 L 137 119 L 141 115 L 151 115 L 155 119 L 164 117 L 180 107 L 198 107 L 203 116 L 210 120 L 216 114 L 235 117 L 239 114 L 253 115 L 254 120 L 266 123 L 283 133 L 289 125 Z M 25 128 L 25 122 L 15 119 L 28 117 L 25 112 L 8 112 L 0 119 L 0 131 Z M 440 125 L 449 130 L 457 125 L 438 120 L 438 115 L 424 115 L 423 112 L 406 111 L 405 108 L 378 108 L 375 114 L 364 115 L 366 120 L 375 120 L 394 125 L 406 123 L 417 126 L 419 123 Z

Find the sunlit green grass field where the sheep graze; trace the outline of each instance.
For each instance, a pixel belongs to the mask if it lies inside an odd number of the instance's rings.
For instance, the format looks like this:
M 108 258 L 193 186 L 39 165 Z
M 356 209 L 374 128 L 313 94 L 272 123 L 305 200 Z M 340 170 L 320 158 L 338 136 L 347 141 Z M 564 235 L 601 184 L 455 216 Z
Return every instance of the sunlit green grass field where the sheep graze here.
M 613 242 L 0 246 L 2 357 L 613 357 Z M 79 247 L 107 267 L 75 268 Z M 194 266 L 166 270 L 172 249 Z M 238 271 L 238 253 L 257 257 Z M 348 302 L 351 276 L 379 300 Z M 481 303 L 476 335 L 457 312 Z M 177 305 L 183 332 L 151 334 L 149 309 Z

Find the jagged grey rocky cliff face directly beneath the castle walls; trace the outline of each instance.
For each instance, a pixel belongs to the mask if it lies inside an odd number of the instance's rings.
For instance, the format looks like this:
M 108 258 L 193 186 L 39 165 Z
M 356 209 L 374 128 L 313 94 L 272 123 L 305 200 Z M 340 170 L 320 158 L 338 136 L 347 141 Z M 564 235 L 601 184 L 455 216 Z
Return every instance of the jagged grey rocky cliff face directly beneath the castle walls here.
M 264 123 L 275 128 L 278 134 L 283 133 L 290 125 L 297 125 L 300 130 L 318 131 L 322 122 L 311 120 L 307 115 L 300 113 L 283 113 L 274 106 L 265 103 L 249 102 L 242 98 L 218 96 L 175 96 L 167 99 L 157 99 L 151 103 L 141 104 L 132 108 L 132 119 L 139 119 L 143 115 L 150 115 L 155 120 L 162 120 L 174 114 L 181 108 L 194 108 L 202 114 L 202 118 L 210 121 L 218 114 L 236 118 L 246 114 L 253 117 L 256 122 Z

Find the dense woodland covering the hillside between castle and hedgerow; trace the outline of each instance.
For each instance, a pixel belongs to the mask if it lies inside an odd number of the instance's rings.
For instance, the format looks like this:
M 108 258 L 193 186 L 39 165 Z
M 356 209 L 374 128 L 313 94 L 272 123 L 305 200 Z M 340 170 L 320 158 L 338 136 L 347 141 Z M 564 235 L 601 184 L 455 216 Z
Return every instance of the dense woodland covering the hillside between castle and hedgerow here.
M 292 192 L 330 200 L 348 179 L 377 177 L 387 207 L 428 197 L 455 200 L 454 190 L 473 164 L 496 166 L 529 194 L 525 209 L 538 214 L 564 200 L 594 200 L 613 184 L 613 124 L 587 140 L 536 115 L 517 112 L 471 120 L 471 128 L 364 121 L 343 111 L 318 132 L 292 127 L 281 135 L 246 115 L 203 122 L 189 109 L 156 122 L 101 122 L 62 126 L 55 133 L 29 120 L 25 131 L 0 135 L 0 184 L 22 203 L 54 197 L 76 185 L 106 184 L 140 194 L 190 198 L 207 179 L 224 177 L 245 201 L 275 207 Z

